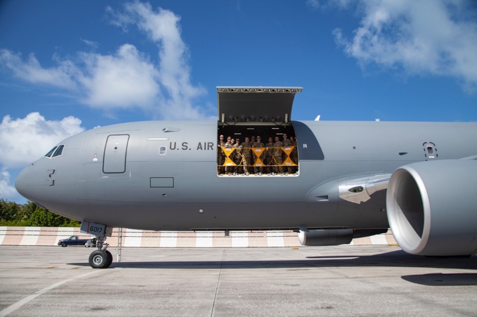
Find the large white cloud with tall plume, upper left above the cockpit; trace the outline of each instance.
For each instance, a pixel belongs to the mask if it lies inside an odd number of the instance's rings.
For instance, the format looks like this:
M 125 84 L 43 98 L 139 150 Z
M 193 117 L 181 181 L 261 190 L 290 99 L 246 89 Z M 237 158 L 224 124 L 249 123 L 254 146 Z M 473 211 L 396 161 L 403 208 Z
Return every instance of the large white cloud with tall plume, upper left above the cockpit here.
M 204 119 L 204 110 L 195 102 L 205 89 L 191 83 L 180 17 L 141 2 L 126 3 L 121 12 L 110 8 L 108 12 L 112 24 L 123 30 L 134 26 L 156 43 L 157 61 L 134 45 L 123 44 L 112 54 L 78 52 L 75 59 L 54 55 L 57 66 L 52 68 L 43 68 L 33 54 L 23 59 L 21 54 L 0 50 L 0 64 L 20 79 L 67 89 L 80 102 L 107 112 L 139 107 L 163 119 Z

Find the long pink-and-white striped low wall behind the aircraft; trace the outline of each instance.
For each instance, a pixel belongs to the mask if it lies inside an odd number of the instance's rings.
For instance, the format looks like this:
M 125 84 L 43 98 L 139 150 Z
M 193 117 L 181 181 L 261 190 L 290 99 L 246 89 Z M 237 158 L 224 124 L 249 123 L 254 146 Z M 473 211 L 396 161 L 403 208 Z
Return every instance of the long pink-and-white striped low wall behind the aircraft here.
M 3 246 L 56 246 L 58 240 L 70 236 L 93 238 L 80 233 L 80 228 L 53 227 L 0 227 L 0 245 Z M 117 247 L 118 229 L 107 238 L 111 247 Z M 351 245 L 397 245 L 390 230 L 371 237 L 355 238 Z M 253 248 L 301 247 L 298 234 L 282 231 L 150 231 L 123 229 L 123 247 L 138 248 Z

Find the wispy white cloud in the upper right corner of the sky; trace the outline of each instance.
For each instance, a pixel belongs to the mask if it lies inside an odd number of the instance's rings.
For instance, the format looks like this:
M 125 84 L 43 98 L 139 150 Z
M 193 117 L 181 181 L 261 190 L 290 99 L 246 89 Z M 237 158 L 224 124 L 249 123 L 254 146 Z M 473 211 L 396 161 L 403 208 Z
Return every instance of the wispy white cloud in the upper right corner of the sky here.
M 407 74 L 452 76 L 477 88 L 477 22 L 472 4 L 458 0 L 360 0 L 361 26 L 352 40 L 334 30 L 337 43 L 366 67 Z M 475 7 L 474 7 L 475 9 Z

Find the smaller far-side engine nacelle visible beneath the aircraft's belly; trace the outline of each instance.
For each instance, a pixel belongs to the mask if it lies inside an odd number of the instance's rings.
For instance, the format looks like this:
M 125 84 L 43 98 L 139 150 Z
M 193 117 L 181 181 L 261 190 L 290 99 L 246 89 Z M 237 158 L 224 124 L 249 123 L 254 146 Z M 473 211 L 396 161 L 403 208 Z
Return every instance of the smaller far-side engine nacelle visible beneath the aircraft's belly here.
M 308 247 L 348 244 L 353 240 L 353 229 L 300 230 L 298 240 L 302 246 Z

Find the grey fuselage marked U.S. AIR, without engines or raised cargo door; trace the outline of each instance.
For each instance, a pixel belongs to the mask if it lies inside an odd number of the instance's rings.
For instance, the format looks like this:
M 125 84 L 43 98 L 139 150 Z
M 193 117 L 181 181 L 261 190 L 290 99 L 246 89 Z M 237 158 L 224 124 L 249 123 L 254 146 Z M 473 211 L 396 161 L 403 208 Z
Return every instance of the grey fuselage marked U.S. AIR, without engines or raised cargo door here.
M 413 162 L 476 154 L 476 123 L 292 121 L 291 127 L 295 175 L 219 175 L 216 121 L 147 121 L 65 139 L 61 155 L 32 163 L 15 185 L 44 208 L 111 227 L 388 228 L 385 190 L 368 188 L 363 201 L 343 199 L 340 186 L 386 178 Z

